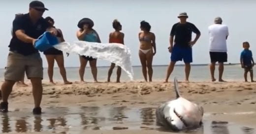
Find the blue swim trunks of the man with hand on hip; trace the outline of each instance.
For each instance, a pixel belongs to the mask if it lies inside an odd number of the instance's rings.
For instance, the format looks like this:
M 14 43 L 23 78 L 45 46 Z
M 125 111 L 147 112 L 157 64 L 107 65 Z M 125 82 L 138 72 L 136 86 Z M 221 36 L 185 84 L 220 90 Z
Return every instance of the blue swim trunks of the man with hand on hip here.
M 171 53 L 171 61 L 184 61 L 184 63 L 192 63 L 192 47 L 180 47 L 174 45 Z

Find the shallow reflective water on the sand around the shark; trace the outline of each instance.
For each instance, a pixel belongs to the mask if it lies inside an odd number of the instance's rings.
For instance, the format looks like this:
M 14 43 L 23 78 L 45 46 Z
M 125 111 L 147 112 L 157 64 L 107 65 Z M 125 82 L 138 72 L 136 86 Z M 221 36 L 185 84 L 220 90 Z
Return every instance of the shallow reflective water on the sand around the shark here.
M 81 134 L 85 130 L 163 130 L 155 124 L 155 108 L 59 107 L 45 108 L 42 115 L 31 109 L 11 110 L 0 114 L 0 132 L 50 132 Z M 228 113 L 226 113 L 228 114 Z M 236 123 L 207 120 L 187 134 L 256 134 L 254 128 Z M 183 132 L 184 133 L 184 132 Z

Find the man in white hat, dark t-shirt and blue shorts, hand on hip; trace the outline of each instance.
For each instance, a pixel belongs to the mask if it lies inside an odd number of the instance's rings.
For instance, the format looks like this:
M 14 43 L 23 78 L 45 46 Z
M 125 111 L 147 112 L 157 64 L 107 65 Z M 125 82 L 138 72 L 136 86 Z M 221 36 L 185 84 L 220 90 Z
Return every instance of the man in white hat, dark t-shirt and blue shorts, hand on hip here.
M 188 15 L 186 12 L 180 13 L 178 18 L 180 19 L 180 22 L 175 23 L 172 26 L 170 33 L 170 47 L 168 47 L 168 49 L 171 53 L 171 62 L 167 69 L 165 82 L 168 82 L 175 63 L 182 60 L 185 63 L 186 82 L 189 82 L 191 68 L 190 63 L 192 63 L 192 46 L 196 43 L 201 35 L 200 31 L 194 24 L 187 22 Z M 193 41 L 192 32 L 196 34 Z

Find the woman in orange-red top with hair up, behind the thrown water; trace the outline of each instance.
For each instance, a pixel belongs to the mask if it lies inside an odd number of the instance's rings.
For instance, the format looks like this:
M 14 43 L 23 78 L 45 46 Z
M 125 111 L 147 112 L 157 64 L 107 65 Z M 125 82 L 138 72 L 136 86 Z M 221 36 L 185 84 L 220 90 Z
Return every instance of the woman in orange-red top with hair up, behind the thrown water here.
M 120 32 L 122 30 L 122 25 L 120 22 L 118 22 L 118 20 L 113 21 L 113 28 L 115 29 L 115 31 L 109 34 L 109 43 L 124 44 L 125 34 Z M 114 63 L 111 63 L 111 66 L 108 70 L 107 82 L 110 82 L 110 77 L 115 66 L 116 65 Z M 117 83 L 120 83 L 120 76 L 121 76 L 121 67 L 117 66 Z

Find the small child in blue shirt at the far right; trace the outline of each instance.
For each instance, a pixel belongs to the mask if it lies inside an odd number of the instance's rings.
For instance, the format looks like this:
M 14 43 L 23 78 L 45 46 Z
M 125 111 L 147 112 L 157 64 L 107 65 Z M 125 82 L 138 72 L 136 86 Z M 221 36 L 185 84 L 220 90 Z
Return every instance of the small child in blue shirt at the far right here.
M 247 82 L 247 73 L 250 71 L 251 81 L 254 81 L 254 59 L 253 59 L 253 53 L 251 50 L 249 50 L 250 44 L 248 42 L 243 43 L 244 50 L 241 52 L 240 56 L 240 63 L 241 67 L 245 69 L 244 77 L 245 82 Z

